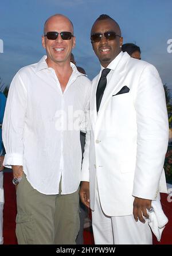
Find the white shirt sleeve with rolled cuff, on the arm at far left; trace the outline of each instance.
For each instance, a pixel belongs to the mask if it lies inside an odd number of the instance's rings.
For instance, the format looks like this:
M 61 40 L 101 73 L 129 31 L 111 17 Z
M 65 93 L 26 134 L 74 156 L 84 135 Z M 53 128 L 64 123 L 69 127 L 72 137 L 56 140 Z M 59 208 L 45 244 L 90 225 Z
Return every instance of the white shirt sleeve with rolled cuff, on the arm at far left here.
M 27 91 L 19 72 L 14 76 L 7 97 L 2 125 L 6 154 L 3 165 L 23 165 L 23 133 L 27 106 Z

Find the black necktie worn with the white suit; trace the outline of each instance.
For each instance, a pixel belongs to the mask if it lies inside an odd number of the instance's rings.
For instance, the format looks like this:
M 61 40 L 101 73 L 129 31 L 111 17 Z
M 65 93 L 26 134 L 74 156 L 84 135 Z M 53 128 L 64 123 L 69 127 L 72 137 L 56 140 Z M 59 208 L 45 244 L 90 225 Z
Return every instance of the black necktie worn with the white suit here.
M 109 68 L 104 68 L 103 71 L 101 72 L 101 77 L 97 86 L 97 91 L 96 91 L 96 106 L 97 106 L 97 112 L 99 111 L 101 99 L 103 97 L 104 89 L 107 84 L 107 79 L 106 76 L 107 74 L 111 71 Z

